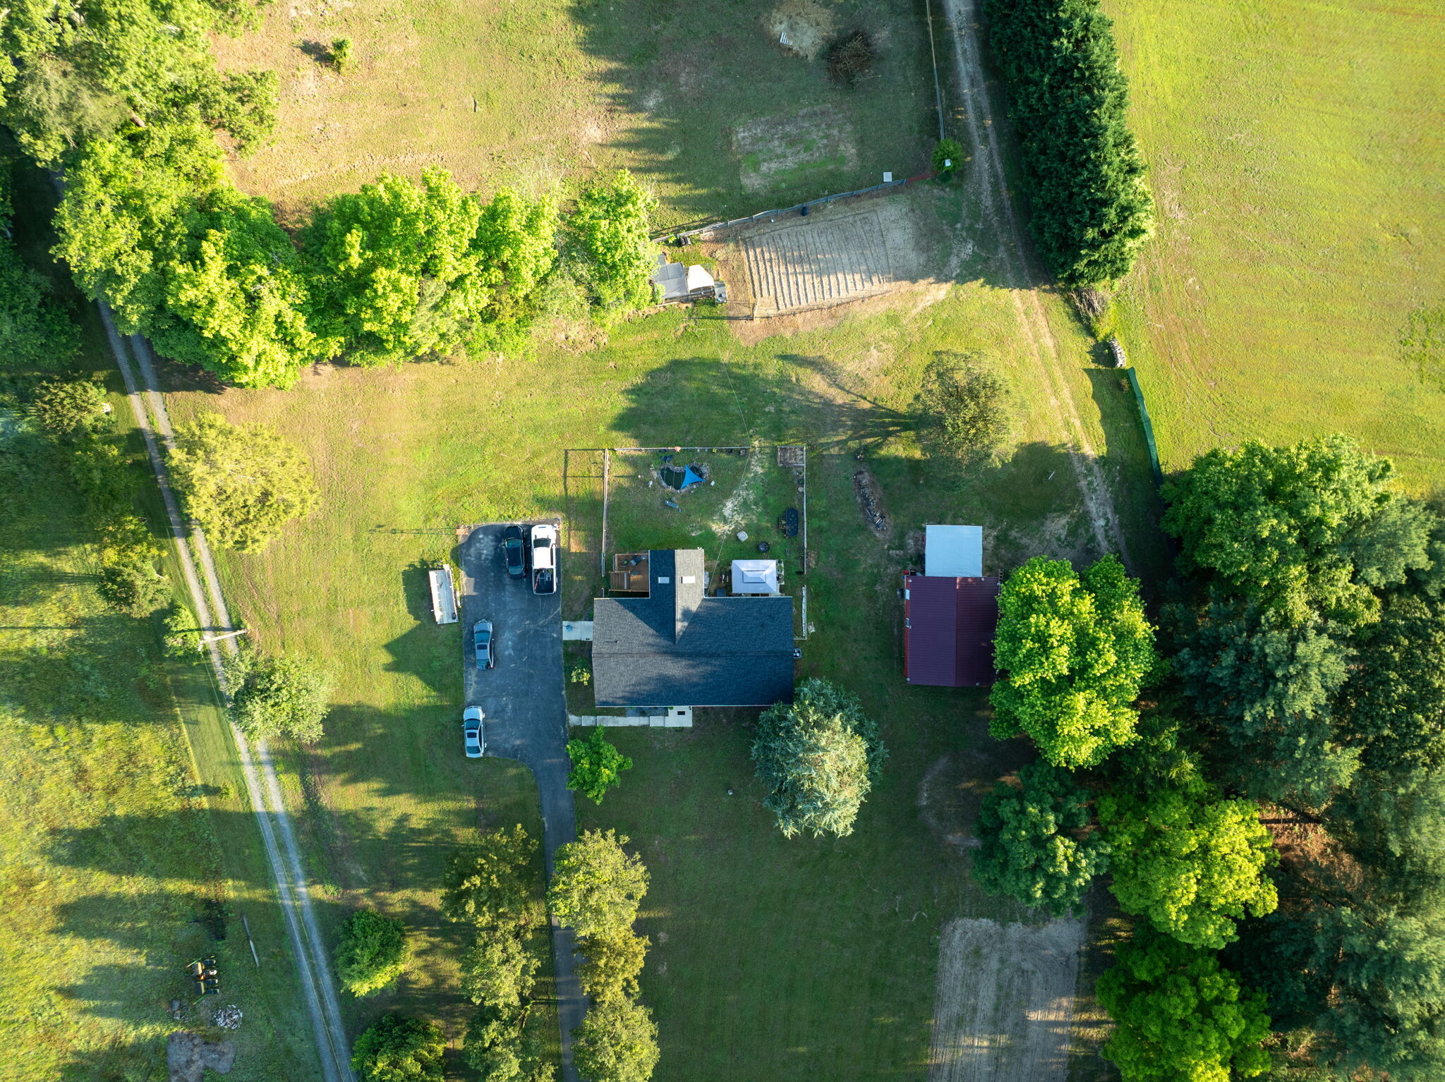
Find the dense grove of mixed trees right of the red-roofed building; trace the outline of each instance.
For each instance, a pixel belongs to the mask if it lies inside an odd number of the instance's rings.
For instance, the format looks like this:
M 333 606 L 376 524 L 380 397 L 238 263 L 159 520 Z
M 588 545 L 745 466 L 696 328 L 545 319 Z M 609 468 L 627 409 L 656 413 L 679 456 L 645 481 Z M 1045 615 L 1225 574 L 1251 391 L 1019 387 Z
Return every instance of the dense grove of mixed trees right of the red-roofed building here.
M 1004 584 L 994 735 L 1040 761 L 984 800 L 975 874 L 1062 914 L 1108 873 L 1126 1082 L 1439 1078 L 1442 508 L 1344 436 L 1211 451 L 1163 498 L 1159 627 L 1113 558 Z

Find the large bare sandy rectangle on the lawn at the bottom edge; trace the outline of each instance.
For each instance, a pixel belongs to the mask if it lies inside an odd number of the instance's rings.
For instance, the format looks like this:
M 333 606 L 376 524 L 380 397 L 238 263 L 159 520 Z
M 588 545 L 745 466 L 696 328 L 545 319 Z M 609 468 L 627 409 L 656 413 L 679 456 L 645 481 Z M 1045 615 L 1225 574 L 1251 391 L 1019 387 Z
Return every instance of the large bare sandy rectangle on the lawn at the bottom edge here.
M 1082 945 L 1082 920 L 949 922 L 929 1082 L 1065 1082 Z

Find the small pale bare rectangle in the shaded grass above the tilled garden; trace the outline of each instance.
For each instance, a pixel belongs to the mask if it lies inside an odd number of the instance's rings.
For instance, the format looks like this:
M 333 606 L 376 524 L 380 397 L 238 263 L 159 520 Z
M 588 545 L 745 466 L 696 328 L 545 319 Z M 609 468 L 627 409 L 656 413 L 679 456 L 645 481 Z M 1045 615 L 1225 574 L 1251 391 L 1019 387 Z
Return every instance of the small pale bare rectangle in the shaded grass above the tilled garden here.
M 858 168 L 853 130 L 832 105 L 738 124 L 733 150 L 743 162 L 740 179 L 749 192 L 796 186 L 811 172 Z

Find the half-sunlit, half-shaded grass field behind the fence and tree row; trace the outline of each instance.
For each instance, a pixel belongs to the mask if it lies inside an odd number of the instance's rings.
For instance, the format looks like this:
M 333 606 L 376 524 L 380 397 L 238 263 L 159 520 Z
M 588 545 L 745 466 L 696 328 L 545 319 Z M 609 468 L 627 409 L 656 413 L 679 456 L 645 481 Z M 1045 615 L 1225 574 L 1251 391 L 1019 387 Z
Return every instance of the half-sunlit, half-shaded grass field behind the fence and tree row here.
M 870 33 L 873 71 L 831 79 L 821 55 L 779 45 L 775 12 L 822 43 Z M 338 38 L 354 56 L 340 74 Z M 733 217 L 923 172 L 938 137 L 926 27 L 883 0 L 288 0 L 217 49 L 280 75 L 276 139 L 236 175 L 286 215 L 439 165 L 486 192 L 627 166 L 663 224 Z

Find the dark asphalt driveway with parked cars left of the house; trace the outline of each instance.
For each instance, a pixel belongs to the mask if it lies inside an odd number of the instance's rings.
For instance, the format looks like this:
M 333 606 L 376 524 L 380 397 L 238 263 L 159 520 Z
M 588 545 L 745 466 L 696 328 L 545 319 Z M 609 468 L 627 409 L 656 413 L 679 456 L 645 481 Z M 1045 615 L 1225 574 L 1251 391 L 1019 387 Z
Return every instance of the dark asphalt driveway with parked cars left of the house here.
M 468 706 L 487 721 L 487 754 L 532 769 L 542 799 L 542 852 L 552 877 L 556 848 L 577 839 L 577 812 L 566 787 L 566 695 L 562 688 L 562 595 L 538 597 L 510 579 L 501 555 L 506 524 L 477 526 L 461 546 L 462 672 Z M 478 670 L 471 626 L 490 620 L 497 665 Z M 562 1023 L 562 1082 L 578 1082 L 572 1030 L 587 1001 L 577 984 L 572 933 L 552 919 L 556 1003 Z

